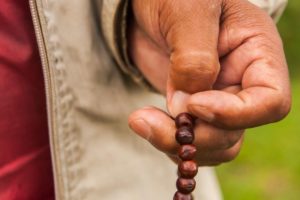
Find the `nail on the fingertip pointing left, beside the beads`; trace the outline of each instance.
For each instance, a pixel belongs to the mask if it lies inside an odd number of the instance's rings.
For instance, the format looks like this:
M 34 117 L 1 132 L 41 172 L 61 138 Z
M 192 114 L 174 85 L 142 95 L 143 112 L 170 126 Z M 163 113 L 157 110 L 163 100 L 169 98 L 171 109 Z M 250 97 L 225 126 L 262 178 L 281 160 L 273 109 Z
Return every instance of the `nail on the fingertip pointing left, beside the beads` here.
M 150 141 L 152 132 L 149 124 L 143 119 L 135 119 L 129 122 L 130 128 L 141 137 Z

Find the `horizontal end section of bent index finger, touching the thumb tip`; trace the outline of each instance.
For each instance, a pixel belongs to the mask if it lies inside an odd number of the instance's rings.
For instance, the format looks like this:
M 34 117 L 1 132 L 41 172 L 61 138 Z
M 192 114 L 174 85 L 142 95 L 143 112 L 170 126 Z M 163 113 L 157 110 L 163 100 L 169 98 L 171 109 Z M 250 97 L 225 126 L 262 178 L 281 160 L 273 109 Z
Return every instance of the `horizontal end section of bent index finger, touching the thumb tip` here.
M 282 119 L 289 105 L 289 98 L 281 91 L 257 86 L 237 95 L 217 90 L 195 94 L 188 110 L 221 128 L 245 129 Z

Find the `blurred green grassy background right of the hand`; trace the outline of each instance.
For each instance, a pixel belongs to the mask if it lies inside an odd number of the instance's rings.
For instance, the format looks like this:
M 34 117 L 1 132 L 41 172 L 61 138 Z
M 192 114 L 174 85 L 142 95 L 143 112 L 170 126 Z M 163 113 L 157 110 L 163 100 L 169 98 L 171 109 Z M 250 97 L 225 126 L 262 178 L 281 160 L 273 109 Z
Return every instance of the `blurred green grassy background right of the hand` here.
M 225 200 L 300 199 L 300 0 L 278 23 L 289 64 L 293 106 L 283 121 L 251 129 L 239 157 L 217 167 Z

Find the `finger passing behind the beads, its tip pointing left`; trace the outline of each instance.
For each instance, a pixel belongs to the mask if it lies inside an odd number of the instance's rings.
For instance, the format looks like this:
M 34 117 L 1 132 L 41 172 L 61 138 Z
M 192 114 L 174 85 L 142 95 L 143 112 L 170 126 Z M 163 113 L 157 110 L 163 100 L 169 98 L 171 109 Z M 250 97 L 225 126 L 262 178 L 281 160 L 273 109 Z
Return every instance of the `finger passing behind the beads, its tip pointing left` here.
M 132 113 L 130 127 L 154 147 L 167 154 L 177 154 L 179 145 L 175 140 L 174 121 L 163 111 L 149 107 Z M 235 145 L 243 131 L 225 131 L 203 122 L 197 122 L 195 141 L 199 151 L 224 150 Z

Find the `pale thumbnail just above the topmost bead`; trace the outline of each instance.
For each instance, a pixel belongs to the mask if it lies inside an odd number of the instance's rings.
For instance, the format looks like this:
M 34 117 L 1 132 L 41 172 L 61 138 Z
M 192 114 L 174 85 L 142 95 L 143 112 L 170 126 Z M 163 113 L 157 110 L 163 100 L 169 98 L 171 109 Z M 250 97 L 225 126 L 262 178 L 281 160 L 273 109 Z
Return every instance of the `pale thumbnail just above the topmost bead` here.
M 167 105 L 168 111 L 172 117 L 176 117 L 179 113 L 187 111 L 186 105 L 189 96 L 189 94 L 179 90 L 174 92 Z

